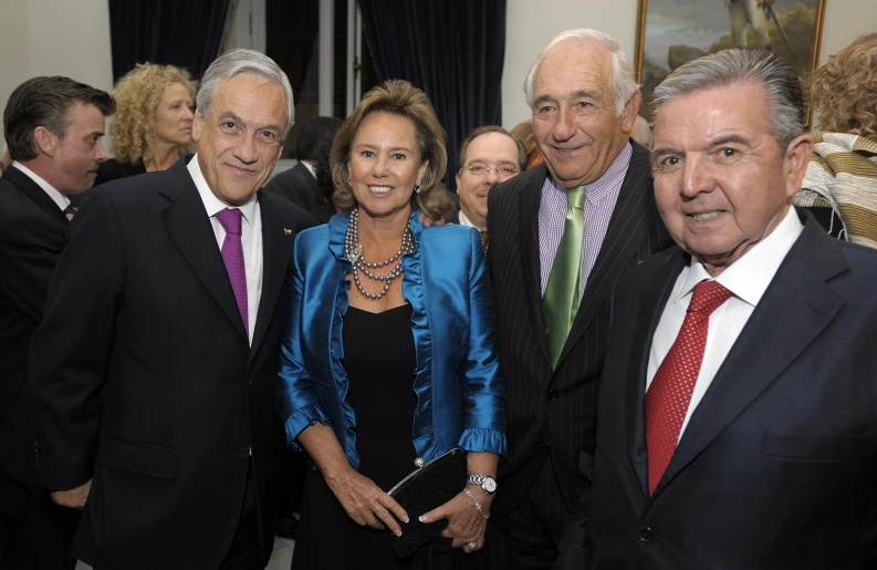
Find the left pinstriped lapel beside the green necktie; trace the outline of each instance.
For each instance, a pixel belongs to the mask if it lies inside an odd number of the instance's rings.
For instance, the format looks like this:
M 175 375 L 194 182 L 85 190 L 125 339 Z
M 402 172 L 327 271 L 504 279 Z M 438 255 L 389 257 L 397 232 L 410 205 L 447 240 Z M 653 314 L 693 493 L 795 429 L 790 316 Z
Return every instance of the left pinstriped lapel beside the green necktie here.
M 545 184 L 545 176 L 549 169 L 542 164 L 535 167 L 536 173 L 530 182 L 522 188 L 510 188 L 509 191 L 520 191 L 519 199 L 522 201 L 518 208 L 521 216 L 519 228 L 521 235 L 520 248 L 523 261 L 524 273 L 524 294 L 526 296 L 526 307 L 530 312 L 530 322 L 533 323 L 533 333 L 545 359 L 551 362 L 549 353 L 549 339 L 545 334 L 545 318 L 542 312 L 542 273 L 539 256 L 539 208 L 542 201 L 542 186 Z

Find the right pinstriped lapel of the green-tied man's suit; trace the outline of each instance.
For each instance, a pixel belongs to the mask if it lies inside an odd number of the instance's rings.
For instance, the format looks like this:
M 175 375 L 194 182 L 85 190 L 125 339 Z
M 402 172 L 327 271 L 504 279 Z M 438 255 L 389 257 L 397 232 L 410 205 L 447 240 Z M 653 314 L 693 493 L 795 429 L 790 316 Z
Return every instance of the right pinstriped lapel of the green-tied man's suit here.
M 558 369 L 587 330 L 592 319 L 608 297 L 615 280 L 627 268 L 628 259 L 634 255 L 657 216 L 658 208 L 655 206 L 651 191 L 648 152 L 639 145 L 634 145 L 634 154 L 622 183 L 618 201 L 606 228 L 606 236 L 603 238 L 594 268 L 588 276 L 578 313 L 557 361 Z

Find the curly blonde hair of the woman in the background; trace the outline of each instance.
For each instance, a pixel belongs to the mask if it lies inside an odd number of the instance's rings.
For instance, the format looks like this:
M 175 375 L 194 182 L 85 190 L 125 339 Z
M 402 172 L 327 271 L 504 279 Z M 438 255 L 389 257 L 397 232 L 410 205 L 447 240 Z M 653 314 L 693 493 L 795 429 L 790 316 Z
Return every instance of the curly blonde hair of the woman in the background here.
M 146 163 L 155 144 L 155 112 L 165 89 L 174 83 L 184 85 L 195 100 L 196 83 L 189 72 L 174 65 L 139 63 L 118 80 L 113 96 L 116 115 L 109 125 L 113 154 L 125 164 Z M 181 145 L 181 155 L 192 145 Z

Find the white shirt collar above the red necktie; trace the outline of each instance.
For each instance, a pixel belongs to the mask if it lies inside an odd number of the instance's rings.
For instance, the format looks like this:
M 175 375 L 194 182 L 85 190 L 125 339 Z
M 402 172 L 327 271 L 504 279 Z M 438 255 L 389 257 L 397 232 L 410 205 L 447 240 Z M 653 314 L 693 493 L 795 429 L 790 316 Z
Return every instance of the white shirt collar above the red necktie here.
M 768 286 L 771 284 L 773 276 L 789 255 L 792 246 L 797 241 L 798 236 L 804 230 L 797 211 L 790 207 L 785 217 L 763 240 L 755 243 L 752 249 L 743 253 L 743 257 L 731 263 L 724 271 L 719 273 L 716 281 L 738 299 L 755 307 L 761 301 Z M 704 279 L 712 279 L 698 259 L 691 257 L 688 273 L 685 276 L 682 288 L 674 302 L 678 302 L 693 291 L 695 286 Z

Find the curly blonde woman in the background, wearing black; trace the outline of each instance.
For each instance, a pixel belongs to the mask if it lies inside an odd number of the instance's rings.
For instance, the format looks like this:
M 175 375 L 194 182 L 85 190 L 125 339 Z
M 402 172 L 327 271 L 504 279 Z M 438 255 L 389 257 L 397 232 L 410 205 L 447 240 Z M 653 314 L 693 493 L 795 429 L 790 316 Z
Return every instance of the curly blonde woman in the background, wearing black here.
M 191 151 L 196 83 L 174 65 L 138 64 L 116 84 L 109 126 L 114 158 L 101 165 L 95 186 L 166 170 Z

